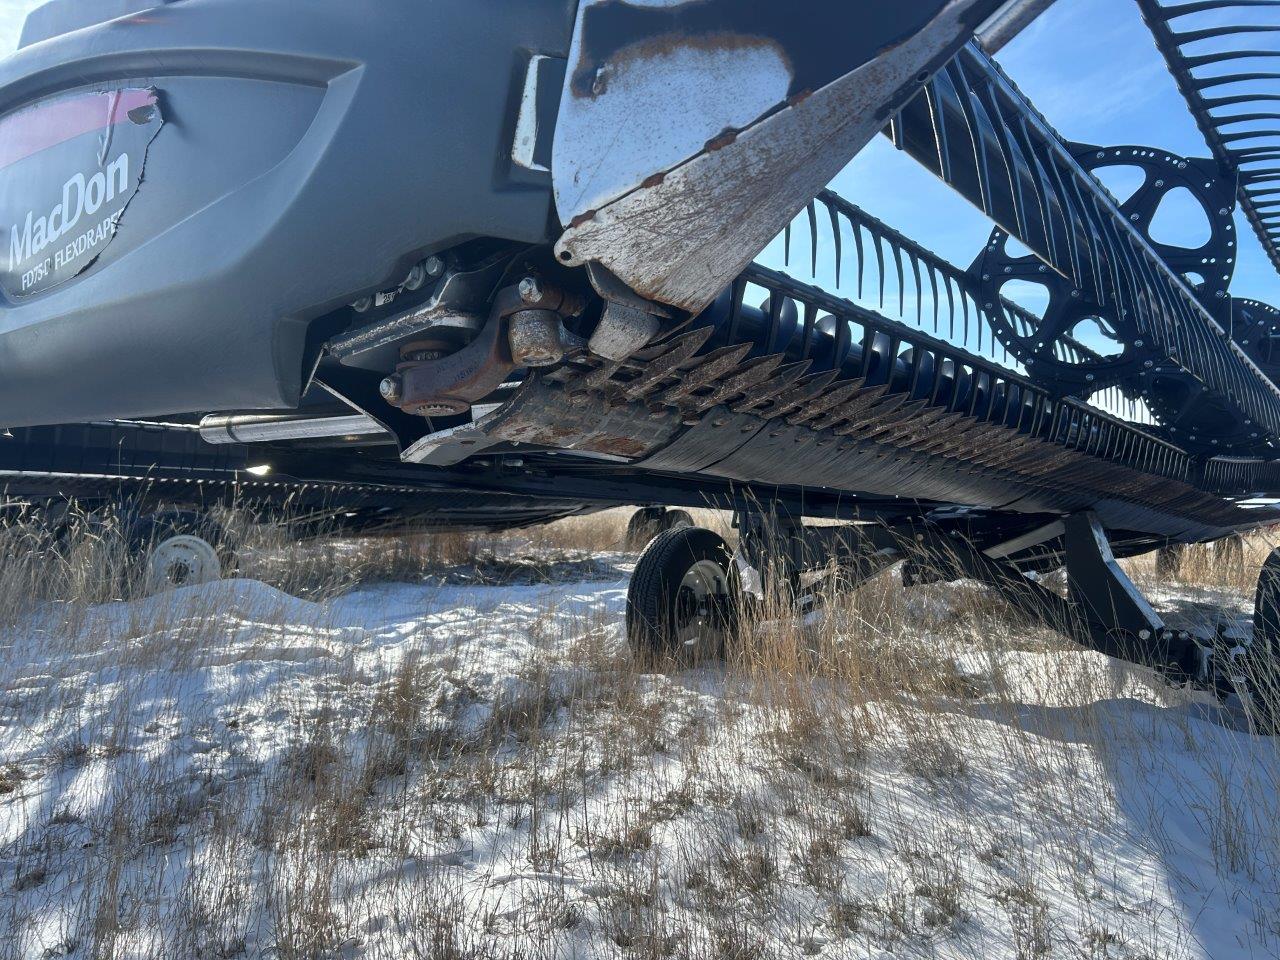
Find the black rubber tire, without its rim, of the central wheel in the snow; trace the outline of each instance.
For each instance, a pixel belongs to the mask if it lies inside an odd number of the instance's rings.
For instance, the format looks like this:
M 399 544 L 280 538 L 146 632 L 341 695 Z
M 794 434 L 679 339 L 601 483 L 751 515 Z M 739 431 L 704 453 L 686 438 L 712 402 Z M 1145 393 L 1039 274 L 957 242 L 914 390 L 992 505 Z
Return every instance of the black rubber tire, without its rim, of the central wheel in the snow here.
M 737 590 L 733 554 L 724 539 L 712 530 L 681 526 L 653 539 L 631 575 L 627 588 L 627 640 L 641 654 L 685 654 L 677 649 L 673 598 L 695 563 L 713 561 L 724 571 L 730 602 L 724 611 L 726 631 L 735 626 Z M 722 649 L 696 652 L 699 659 L 723 654 Z

